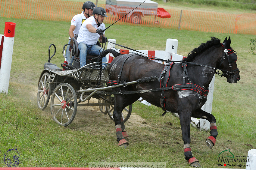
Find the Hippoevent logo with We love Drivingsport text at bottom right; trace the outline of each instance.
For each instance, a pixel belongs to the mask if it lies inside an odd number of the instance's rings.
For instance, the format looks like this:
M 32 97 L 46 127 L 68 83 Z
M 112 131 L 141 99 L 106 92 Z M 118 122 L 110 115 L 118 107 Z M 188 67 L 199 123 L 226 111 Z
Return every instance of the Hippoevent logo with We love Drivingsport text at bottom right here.
M 249 156 L 234 156 L 230 150 L 225 150 L 220 152 L 218 158 L 218 166 L 225 166 L 225 167 L 246 167 L 250 166 L 250 158 Z M 246 163 L 248 163 L 246 165 Z

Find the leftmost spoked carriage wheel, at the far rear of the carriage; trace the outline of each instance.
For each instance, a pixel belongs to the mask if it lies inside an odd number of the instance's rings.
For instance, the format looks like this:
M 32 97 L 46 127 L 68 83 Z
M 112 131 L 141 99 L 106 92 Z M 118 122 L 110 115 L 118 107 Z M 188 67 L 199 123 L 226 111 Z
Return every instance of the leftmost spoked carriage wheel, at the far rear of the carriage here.
M 48 81 L 49 77 L 49 73 L 44 73 L 38 85 L 37 106 L 41 110 L 44 110 L 46 108 L 51 96 L 52 84 L 50 84 Z

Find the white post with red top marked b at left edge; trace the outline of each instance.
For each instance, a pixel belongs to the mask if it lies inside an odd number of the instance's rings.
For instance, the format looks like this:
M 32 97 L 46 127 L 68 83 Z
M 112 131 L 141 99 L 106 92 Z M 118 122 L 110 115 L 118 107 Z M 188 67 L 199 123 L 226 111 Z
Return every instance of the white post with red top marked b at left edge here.
M 4 40 L 1 44 L 3 51 L 0 63 L 0 93 L 8 93 L 15 26 L 13 22 L 5 22 Z

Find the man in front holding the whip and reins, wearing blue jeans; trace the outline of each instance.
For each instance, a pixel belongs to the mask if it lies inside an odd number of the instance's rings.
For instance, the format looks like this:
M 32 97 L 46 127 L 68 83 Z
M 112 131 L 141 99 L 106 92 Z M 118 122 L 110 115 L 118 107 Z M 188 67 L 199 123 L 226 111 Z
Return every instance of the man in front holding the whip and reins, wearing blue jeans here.
M 103 51 L 103 48 L 96 44 L 98 40 L 100 43 L 106 43 L 108 40 L 105 37 L 104 29 L 106 27 L 103 24 L 105 16 L 108 17 L 105 9 L 96 7 L 92 15 L 83 22 L 77 37 L 78 49 L 80 50 L 80 67 L 86 65 L 87 52 L 90 55 L 98 56 Z M 107 62 L 106 56 L 102 58 L 102 62 Z M 105 68 L 104 66 L 107 66 L 107 64 L 102 64 L 103 68 Z

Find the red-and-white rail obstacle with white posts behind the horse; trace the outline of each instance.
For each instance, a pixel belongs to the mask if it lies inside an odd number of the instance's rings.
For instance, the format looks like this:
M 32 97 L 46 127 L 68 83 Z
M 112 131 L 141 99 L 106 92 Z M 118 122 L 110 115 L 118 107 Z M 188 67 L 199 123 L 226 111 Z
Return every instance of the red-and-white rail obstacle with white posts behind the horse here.
M 116 43 L 116 40 L 115 39 L 108 39 L 110 42 L 113 42 L 113 43 Z M 114 44 L 110 44 L 108 43 L 108 46 L 107 46 L 107 49 L 114 49 L 112 48 L 112 46 L 115 47 Z M 137 50 L 139 52 L 144 53 L 142 55 L 148 55 L 149 58 L 152 58 L 151 56 L 153 57 L 157 57 L 157 58 L 161 58 L 161 59 L 164 59 L 164 60 L 172 60 L 172 61 L 182 61 L 183 58 L 186 58 L 185 56 L 183 55 L 179 55 L 177 54 L 177 49 L 178 49 L 178 40 L 176 39 L 171 39 L 171 38 L 168 38 L 166 40 L 166 46 L 165 46 L 165 51 L 158 51 L 158 50 L 155 50 L 155 51 L 150 51 L 150 50 Z M 119 52 L 121 54 L 127 54 L 128 52 L 135 52 L 133 50 L 129 50 L 129 49 L 114 49 L 116 52 Z M 138 53 L 138 52 L 135 52 L 135 53 Z M 113 60 L 114 56 L 109 53 L 107 54 L 107 61 L 111 63 L 111 61 Z M 157 61 L 157 60 L 154 60 L 158 63 L 163 63 L 163 64 L 167 64 L 165 62 L 162 62 L 162 61 Z M 202 106 L 202 110 L 204 110 L 205 112 L 208 112 L 208 113 L 211 113 L 211 110 L 212 110 L 212 100 L 213 100 L 213 90 L 214 90 L 214 80 L 215 80 L 215 75 L 209 85 L 209 93 L 208 93 L 208 96 L 207 96 L 207 101 L 206 103 Z M 142 100 L 142 98 L 140 98 L 139 100 Z M 142 103 L 144 103 L 145 105 L 148 105 L 150 106 L 151 104 L 146 102 L 145 100 L 142 101 Z M 191 118 L 191 121 L 193 122 L 192 125 L 194 126 L 197 126 L 198 123 L 200 122 L 200 131 L 201 130 L 210 130 L 210 122 L 205 120 L 205 119 L 200 119 L 198 120 L 197 118 Z

